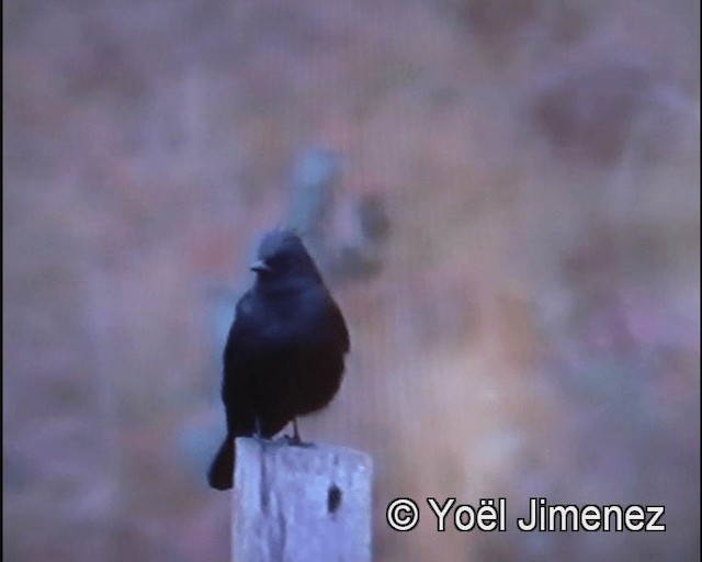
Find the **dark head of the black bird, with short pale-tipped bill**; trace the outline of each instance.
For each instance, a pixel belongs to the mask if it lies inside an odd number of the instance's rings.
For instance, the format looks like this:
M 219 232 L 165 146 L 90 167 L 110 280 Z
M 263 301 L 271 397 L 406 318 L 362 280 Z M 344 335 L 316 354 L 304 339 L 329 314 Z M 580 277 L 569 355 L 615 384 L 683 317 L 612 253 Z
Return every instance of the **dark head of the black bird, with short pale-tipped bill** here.
M 251 265 L 259 283 L 279 284 L 295 281 L 320 281 L 321 277 L 299 236 L 292 231 L 271 231 Z

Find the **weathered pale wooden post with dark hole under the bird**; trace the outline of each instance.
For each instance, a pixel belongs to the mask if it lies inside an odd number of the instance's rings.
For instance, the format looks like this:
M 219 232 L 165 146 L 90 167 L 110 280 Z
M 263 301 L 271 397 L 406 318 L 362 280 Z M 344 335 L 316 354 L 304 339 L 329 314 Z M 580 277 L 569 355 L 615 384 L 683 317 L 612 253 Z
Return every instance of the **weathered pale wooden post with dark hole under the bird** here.
M 373 464 L 329 445 L 236 440 L 234 562 L 370 562 Z

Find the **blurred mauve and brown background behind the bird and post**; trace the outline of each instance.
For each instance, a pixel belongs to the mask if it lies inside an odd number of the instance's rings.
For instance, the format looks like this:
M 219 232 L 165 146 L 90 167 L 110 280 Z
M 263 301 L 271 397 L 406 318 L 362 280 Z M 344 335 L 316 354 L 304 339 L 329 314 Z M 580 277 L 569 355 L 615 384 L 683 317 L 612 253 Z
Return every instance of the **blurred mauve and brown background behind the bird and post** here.
M 5 559 L 229 560 L 220 353 L 295 224 L 352 339 L 301 430 L 373 456 L 374 560 L 699 561 L 699 12 L 3 2 Z M 667 531 L 519 532 L 532 496 Z

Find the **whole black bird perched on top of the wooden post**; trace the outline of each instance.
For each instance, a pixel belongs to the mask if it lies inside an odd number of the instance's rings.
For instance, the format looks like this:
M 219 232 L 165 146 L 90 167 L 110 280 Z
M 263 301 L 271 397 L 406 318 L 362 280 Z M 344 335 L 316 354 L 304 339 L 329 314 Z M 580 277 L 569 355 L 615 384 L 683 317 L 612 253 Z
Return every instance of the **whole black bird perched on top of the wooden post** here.
M 233 484 L 234 438 L 271 438 L 296 416 L 316 412 L 341 384 L 349 331 L 299 237 L 272 231 L 251 266 L 256 282 L 236 306 L 224 350 L 222 400 L 227 437 L 210 468 L 216 490 Z

